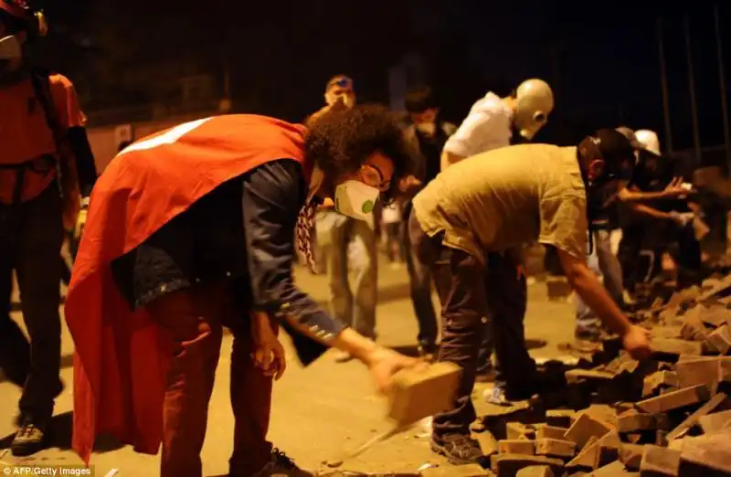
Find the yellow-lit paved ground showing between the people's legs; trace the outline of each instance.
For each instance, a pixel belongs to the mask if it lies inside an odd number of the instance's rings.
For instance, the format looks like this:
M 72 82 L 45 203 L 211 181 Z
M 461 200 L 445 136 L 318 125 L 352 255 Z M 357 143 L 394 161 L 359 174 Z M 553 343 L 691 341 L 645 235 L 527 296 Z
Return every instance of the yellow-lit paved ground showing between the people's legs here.
M 391 269 L 386 263 L 379 270 L 379 305 L 377 327 L 383 345 L 412 349 L 416 345 L 417 324 L 408 299 L 408 277 L 404 269 Z M 328 291 L 323 277 L 299 274 L 304 290 L 318 300 L 326 300 Z M 16 319 L 19 319 L 16 316 Z M 550 302 L 542 282 L 529 287 L 526 318 L 529 339 L 546 340 L 548 345 L 531 353 L 541 357 L 561 355 L 556 345 L 572 339 L 573 314 L 570 302 Z M 207 440 L 203 449 L 204 475 L 225 475 L 232 449 L 233 416 L 228 402 L 228 367 L 231 336 L 225 336 L 217 368 L 216 388 L 211 399 Z M 62 377 L 72 381 L 71 353 L 73 344 L 64 330 Z M 376 396 L 364 366 L 356 362 L 338 364 L 328 353 L 307 369 L 295 364 L 288 346 L 290 366 L 274 386 L 270 440 L 290 455 L 301 467 L 318 470 L 323 461 L 336 459 L 343 451 L 353 451 L 376 433 L 390 428 L 385 416 L 385 401 Z M 482 391 L 489 385 L 478 385 L 474 400 L 480 413 L 488 406 Z M 0 452 L 9 446 L 14 427 L 19 391 L 9 383 L 0 383 Z M 79 463 L 69 451 L 72 389 L 67 387 L 58 398 L 55 418 L 54 447 L 31 458 L 18 460 L 8 454 L 7 463 L 27 465 L 69 465 Z M 5 439 L 2 437 L 5 436 Z M 118 477 L 158 475 L 158 457 L 137 454 L 130 448 L 103 443 L 104 451 L 92 457 L 96 475 L 105 476 L 119 469 Z M 423 429 L 412 429 L 380 443 L 359 457 L 344 461 L 341 470 L 360 472 L 416 472 L 424 463 L 447 465 L 429 451 L 429 440 Z

